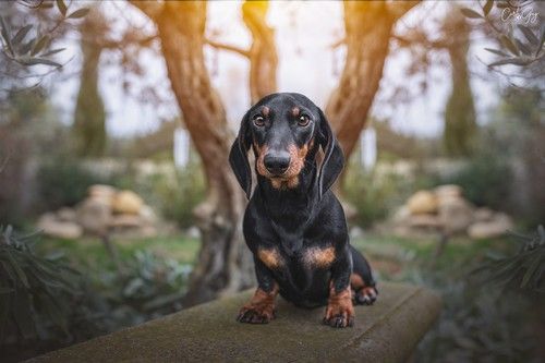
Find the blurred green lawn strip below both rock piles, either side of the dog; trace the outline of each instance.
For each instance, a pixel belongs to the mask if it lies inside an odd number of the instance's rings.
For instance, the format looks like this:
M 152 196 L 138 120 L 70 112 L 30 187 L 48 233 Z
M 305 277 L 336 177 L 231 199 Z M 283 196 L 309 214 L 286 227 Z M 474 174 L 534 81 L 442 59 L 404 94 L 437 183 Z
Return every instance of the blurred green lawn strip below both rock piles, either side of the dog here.
M 172 258 L 182 264 L 193 264 L 197 257 L 199 241 L 187 237 L 160 237 L 155 239 L 114 239 L 121 259 L 128 259 L 136 251 L 147 250 L 158 257 Z M 351 242 L 371 262 L 380 279 L 411 280 L 411 274 L 423 267 L 436 270 L 459 270 L 482 262 L 491 250 L 512 247 L 507 239 L 472 241 L 467 238 L 450 240 L 444 253 L 435 257 L 438 239 L 407 239 L 371 234 Z M 43 238 L 36 250 L 40 254 L 63 253 L 75 266 L 99 270 L 112 267 L 109 255 L 99 239 L 84 238 L 59 240 Z

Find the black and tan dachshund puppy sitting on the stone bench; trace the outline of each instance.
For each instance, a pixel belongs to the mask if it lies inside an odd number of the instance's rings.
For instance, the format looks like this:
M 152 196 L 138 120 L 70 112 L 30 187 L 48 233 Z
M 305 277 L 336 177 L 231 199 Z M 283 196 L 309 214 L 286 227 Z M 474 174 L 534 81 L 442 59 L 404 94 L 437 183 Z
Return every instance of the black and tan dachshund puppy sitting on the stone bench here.
M 250 147 L 257 173 L 251 198 Z M 300 94 L 263 98 L 242 119 L 229 161 L 250 198 L 243 230 L 258 282 L 238 320 L 268 323 L 280 293 L 298 306 L 327 304 L 325 324 L 351 326 L 353 301 L 372 304 L 377 290 L 329 190 L 344 157 L 324 112 Z

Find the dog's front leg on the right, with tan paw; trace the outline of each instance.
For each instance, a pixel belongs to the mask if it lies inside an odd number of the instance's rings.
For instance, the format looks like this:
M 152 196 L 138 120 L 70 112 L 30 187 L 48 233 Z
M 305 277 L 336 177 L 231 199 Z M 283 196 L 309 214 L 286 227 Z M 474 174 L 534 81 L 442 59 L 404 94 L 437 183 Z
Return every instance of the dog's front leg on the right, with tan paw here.
M 347 244 L 347 249 L 337 254 L 336 261 L 331 266 L 329 300 L 326 315 L 324 316 L 324 324 L 335 328 L 344 328 L 354 324 L 352 291 L 350 290 L 352 256 Z

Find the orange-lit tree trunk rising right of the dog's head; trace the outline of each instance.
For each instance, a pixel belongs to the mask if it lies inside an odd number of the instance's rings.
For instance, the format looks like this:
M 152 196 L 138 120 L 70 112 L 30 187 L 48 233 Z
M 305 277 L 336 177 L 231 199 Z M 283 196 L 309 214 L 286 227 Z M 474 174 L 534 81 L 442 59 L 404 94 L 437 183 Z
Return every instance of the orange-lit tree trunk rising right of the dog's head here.
M 391 31 L 417 2 L 346 1 L 347 59 L 326 114 L 344 156 L 352 154 L 383 77 Z

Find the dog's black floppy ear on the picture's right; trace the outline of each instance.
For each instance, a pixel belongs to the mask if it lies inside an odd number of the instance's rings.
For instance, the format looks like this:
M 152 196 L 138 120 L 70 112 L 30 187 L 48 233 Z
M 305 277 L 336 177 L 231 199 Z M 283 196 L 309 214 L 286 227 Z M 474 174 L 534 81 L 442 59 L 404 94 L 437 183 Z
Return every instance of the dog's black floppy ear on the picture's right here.
M 324 112 L 318 109 L 318 143 L 324 150 L 324 161 L 318 171 L 318 197 L 322 198 L 337 180 L 344 166 L 344 155 Z

